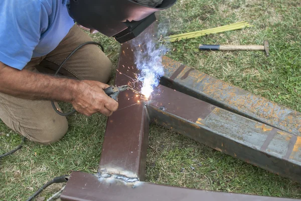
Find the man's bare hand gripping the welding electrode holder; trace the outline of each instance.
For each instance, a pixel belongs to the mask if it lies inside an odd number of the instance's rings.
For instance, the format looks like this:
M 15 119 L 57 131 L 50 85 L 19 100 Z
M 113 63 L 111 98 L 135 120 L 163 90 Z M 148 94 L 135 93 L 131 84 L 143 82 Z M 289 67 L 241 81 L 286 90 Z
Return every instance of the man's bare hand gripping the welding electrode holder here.
M 87 116 L 95 113 L 112 115 L 118 108 L 118 102 L 104 93 L 103 89 L 108 87 L 109 85 L 97 81 L 80 81 L 71 101 L 74 109 Z

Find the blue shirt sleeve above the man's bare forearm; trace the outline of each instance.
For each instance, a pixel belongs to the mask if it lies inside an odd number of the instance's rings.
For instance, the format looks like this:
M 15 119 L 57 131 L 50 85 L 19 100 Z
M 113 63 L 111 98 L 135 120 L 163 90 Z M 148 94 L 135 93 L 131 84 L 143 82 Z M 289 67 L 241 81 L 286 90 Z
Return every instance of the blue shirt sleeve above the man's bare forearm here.
M 46 5 L 47 6 L 47 5 Z M 48 10 L 48 11 L 47 11 Z M 39 0 L 1 0 L 0 61 L 22 70 L 48 27 L 49 9 Z

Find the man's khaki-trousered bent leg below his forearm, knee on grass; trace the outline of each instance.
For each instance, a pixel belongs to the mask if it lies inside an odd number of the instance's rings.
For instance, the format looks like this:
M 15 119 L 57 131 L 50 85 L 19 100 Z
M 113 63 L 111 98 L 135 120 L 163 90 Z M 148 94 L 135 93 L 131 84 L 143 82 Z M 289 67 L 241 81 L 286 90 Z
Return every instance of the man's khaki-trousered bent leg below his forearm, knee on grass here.
M 58 115 L 50 101 L 27 100 L 1 93 L 0 100 L 0 119 L 31 141 L 51 144 L 68 130 L 67 118 Z

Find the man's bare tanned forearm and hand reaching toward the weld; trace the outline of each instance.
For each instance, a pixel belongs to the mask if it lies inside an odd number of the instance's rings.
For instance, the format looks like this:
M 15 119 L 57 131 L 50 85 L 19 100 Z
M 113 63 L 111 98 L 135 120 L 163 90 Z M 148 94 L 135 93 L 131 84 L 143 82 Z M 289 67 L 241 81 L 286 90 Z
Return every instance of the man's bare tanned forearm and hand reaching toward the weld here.
M 0 92 L 24 99 L 53 100 L 72 103 L 80 113 L 110 116 L 118 103 L 103 89 L 108 85 L 97 81 L 57 78 L 27 70 L 17 70 L 0 62 Z

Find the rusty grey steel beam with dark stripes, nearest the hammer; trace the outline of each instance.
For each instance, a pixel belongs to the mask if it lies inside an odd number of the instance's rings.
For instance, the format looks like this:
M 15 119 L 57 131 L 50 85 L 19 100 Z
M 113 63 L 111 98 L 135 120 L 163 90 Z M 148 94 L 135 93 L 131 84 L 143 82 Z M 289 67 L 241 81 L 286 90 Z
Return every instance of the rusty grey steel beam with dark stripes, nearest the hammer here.
M 295 136 L 301 136 L 301 113 L 231 86 L 167 57 L 164 57 L 163 63 L 163 85 Z

